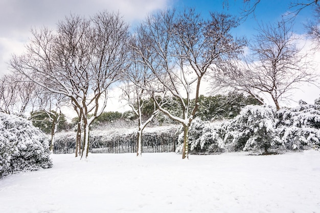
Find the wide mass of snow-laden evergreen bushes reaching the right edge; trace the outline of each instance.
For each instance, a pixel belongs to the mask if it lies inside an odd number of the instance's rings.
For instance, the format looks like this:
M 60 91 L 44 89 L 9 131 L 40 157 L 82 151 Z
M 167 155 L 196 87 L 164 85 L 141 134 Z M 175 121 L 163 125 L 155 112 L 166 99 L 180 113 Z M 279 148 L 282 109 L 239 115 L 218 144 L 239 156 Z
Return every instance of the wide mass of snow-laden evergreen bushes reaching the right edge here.
M 320 148 L 320 105 L 300 102 L 292 109 L 246 106 L 222 125 L 221 137 L 229 151 Z

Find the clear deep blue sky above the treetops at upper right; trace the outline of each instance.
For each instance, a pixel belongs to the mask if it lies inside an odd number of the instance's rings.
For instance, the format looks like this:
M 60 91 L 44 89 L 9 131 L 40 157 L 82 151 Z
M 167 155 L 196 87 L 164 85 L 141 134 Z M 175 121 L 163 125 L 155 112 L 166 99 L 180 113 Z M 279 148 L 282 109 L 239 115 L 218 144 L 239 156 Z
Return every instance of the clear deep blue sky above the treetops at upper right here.
M 252 0 L 253 1 L 253 0 Z M 176 0 L 174 7 L 182 10 L 184 7 L 194 7 L 203 16 L 209 15 L 210 12 L 225 12 L 238 17 L 243 16 L 242 12 L 245 7 L 243 0 L 228 0 L 228 7 L 223 7 L 223 0 Z M 290 8 L 292 0 L 261 0 L 255 10 L 255 15 L 250 14 L 245 21 L 236 29 L 237 35 L 246 35 L 251 37 L 256 33 L 258 23 L 274 23 L 288 12 L 294 12 L 298 8 Z M 289 16 L 285 16 L 289 17 Z M 305 8 L 294 19 L 294 33 L 304 34 L 303 24 L 308 19 L 313 19 L 312 8 Z

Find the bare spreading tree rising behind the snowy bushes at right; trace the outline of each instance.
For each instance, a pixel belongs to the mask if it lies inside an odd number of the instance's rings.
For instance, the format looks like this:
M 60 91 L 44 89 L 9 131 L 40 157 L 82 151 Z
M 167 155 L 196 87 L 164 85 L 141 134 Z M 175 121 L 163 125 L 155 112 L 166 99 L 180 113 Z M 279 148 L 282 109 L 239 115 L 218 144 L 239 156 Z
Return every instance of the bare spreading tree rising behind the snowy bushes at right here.
M 291 92 L 302 83 L 315 83 L 308 55 L 296 44 L 291 27 L 280 21 L 275 25 L 261 25 L 259 34 L 250 43 L 245 63 L 239 63 L 237 75 L 215 78 L 214 85 L 228 86 L 255 96 L 261 103 L 260 94 L 267 94 L 275 103 L 288 99 Z

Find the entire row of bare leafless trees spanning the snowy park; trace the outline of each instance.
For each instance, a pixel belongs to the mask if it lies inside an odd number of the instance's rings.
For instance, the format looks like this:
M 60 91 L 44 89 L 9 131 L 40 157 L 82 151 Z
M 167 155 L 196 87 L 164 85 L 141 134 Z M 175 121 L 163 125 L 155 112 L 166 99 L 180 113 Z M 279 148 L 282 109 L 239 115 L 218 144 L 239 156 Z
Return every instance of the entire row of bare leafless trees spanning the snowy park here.
M 78 115 L 76 156 L 87 157 L 90 126 L 106 110 L 109 90 L 118 86 L 138 119 L 137 155 L 143 129 L 161 112 L 183 126 L 186 158 L 189 127 L 203 113 L 204 79 L 213 91 L 243 91 L 261 104 L 266 93 L 277 110 L 297 84 L 316 81 L 288 22 L 262 25 L 253 43 L 232 35 L 239 24 L 235 16 L 202 17 L 195 9 L 159 10 L 132 30 L 119 13 L 67 16 L 55 31 L 32 29 L 25 53 L 13 55 L 13 74 L 1 79 L 1 111 L 23 114 L 29 106 L 33 112 L 54 111 L 55 120 L 63 105 L 72 107 Z M 17 91 L 24 94 L 16 97 Z M 174 110 L 167 107 L 173 102 Z

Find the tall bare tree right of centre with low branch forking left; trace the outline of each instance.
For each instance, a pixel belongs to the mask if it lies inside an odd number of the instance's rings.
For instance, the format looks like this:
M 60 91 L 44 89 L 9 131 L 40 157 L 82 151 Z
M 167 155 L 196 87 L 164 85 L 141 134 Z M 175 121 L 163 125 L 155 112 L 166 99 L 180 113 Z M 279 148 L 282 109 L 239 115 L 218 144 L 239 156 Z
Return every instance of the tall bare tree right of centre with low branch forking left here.
M 153 94 L 158 109 L 184 127 L 182 158 L 188 158 L 188 132 L 198 109 L 203 76 L 225 69 L 225 62 L 236 57 L 245 44 L 230 34 L 237 25 L 237 19 L 229 15 L 211 13 L 209 20 L 203 20 L 193 9 L 180 14 L 166 10 L 148 16 L 136 32 L 141 39 L 141 45 L 135 46 L 136 54 L 162 85 Z M 174 116 L 157 101 L 161 88 L 161 94 L 169 91 L 178 100 L 182 117 Z

